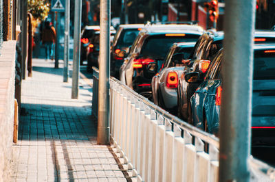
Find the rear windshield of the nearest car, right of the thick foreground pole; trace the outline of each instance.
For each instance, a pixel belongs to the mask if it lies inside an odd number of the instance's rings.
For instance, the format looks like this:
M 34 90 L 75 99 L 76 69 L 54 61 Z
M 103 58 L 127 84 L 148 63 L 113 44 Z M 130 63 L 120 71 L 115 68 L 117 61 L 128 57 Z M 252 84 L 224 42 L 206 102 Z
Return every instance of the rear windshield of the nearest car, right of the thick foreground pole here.
M 254 79 L 275 79 L 275 50 L 254 51 Z

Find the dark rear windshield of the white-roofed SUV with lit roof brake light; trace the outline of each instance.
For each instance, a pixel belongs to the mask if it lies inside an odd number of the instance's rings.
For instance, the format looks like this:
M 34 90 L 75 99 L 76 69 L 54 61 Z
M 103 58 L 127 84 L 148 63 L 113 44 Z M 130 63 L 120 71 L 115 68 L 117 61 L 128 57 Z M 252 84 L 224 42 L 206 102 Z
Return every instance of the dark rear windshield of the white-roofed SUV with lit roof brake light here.
M 141 55 L 143 57 L 153 57 L 155 59 L 164 59 L 170 46 L 175 42 L 196 42 L 199 38 L 198 35 L 186 36 L 150 36 L 148 37 L 143 46 Z

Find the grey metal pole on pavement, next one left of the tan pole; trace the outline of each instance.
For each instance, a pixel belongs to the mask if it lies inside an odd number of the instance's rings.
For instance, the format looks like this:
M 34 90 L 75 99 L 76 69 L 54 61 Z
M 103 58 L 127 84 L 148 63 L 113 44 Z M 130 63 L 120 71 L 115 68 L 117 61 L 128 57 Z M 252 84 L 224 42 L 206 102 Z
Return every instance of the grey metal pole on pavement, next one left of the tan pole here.
M 72 99 L 78 99 L 79 60 L 80 60 L 80 31 L 82 0 L 74 1 L 74 62 L 72 75 Z

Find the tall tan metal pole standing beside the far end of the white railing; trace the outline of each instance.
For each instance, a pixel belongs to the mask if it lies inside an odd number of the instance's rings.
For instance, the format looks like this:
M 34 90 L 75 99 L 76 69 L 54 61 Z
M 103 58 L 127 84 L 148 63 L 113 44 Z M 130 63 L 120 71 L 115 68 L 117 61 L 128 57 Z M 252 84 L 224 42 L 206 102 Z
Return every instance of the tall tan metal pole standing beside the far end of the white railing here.
M 110 0 L 100 1 L 100 64 L 98 83 L 98 144 L 109 144 Z

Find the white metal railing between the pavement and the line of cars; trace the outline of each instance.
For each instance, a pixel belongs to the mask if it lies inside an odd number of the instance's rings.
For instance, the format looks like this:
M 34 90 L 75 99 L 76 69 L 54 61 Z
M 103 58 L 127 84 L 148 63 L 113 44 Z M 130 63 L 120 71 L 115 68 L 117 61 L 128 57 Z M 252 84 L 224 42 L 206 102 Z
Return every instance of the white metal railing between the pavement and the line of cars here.
M 94 69 L 94 112 L 96 86 L 98 70 Z M 170 115 L 115 78 L 110 79 L 110 87 L 111 138 L 133 177 L 138 181 L 218 181 L 218 138 Z M 249 163 L 251 181 L 275 180 L 274 168 L 253 157 Z

